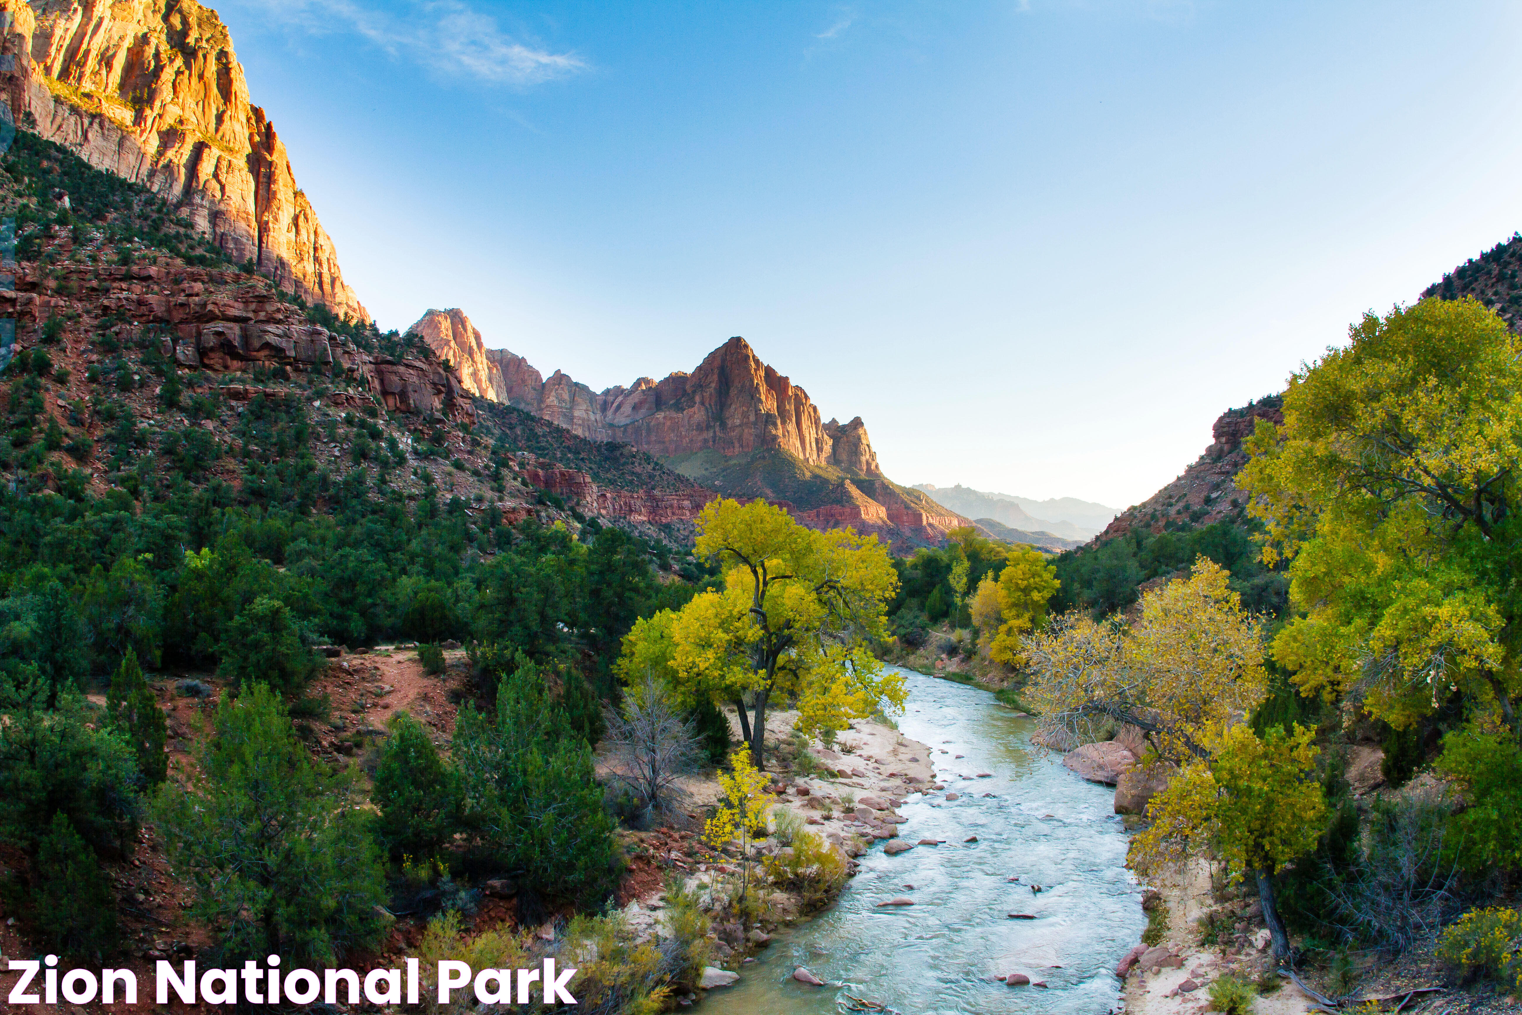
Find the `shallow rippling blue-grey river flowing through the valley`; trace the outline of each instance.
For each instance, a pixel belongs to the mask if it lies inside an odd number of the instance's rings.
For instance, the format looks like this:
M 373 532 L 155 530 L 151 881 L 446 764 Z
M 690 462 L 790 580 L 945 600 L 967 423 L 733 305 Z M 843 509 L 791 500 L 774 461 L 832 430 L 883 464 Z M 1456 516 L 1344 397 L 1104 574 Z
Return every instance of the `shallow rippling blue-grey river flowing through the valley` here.
M 846 995 L 904 1015 L 1105 1015 L 1119 998 L 1116 962 L 1146 925 L 1114 791 L 1032 747 L 1035 723 L 989 692 L 903 673 L 900 730 L 930 746 L 936 776 L 962 797 L 909 797 L 898 832 L 945 843 L 898 857 L 877 845 L 831 908 L 779 931 L 740 983 L 709 992 L 702 1015 L 834 1015 Z M 960 778 L 979 772 L 994 778 Z M 915 905 L 878 908 L 901 895 Z M 798 983 L 798 966 L 828 986 Z M 1049 986 L 989 980 L 1008 972 Z

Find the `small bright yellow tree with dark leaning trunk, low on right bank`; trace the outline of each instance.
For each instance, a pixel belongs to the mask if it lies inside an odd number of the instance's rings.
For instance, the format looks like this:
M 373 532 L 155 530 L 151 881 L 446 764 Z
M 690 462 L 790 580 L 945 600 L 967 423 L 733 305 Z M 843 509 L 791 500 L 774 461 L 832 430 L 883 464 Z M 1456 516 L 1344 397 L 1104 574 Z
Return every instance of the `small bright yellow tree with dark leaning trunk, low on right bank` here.
M 1253 877 L 1274 954 L 1289 954 L 1289 936 L 1274 901 L 1272 875 L 1315 849 L 1326 825 L 1317 781 L 1313 729 L 1271 726 L 1263 738 L 1236 724 L 1205 759 L 1189 762 L 1152 797 L 1152 825 L 1131 840 L 1131 866 L 1148 873 L 1160 863 L 1215 849 L 1233 881 Z

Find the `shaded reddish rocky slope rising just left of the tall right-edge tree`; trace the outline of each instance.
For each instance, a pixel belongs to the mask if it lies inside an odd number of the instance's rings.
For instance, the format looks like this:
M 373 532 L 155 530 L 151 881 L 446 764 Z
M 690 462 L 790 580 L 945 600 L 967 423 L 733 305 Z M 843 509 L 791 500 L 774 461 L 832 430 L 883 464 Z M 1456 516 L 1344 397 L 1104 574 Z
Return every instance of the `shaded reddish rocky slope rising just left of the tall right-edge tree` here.
M 1099 542 L 1125 536 L 1132 530 L 1161 533 L 1181 525 L 1204 527 L 1221 520 L 1240 520 L 1247 495 L 1236 485 L 1236 475 L 1247 464 L 1242 438 L 1253 432 L 1257 420 L 1283 423 L 1280 396 L 1272 394 L 1250 402 L 1240 409 L 1227 409 L 1210 428 L 1213 441 L 1173 482 L 1151 498 L 1116 516 Z

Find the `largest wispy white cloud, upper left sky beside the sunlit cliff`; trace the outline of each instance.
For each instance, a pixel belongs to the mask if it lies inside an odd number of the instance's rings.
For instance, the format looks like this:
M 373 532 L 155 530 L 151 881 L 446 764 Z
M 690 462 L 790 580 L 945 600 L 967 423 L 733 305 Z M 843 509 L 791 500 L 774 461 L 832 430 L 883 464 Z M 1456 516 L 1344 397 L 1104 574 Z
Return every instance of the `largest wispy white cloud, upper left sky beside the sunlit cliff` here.
M 575 53 L 517 41 L 464 0 L 405 0 L 397 12 L 358 0 L 250 0 L 272 18 L 314 33 L 353 32 L 387 53 L 449 76 L 533 85 L 586 70 Z

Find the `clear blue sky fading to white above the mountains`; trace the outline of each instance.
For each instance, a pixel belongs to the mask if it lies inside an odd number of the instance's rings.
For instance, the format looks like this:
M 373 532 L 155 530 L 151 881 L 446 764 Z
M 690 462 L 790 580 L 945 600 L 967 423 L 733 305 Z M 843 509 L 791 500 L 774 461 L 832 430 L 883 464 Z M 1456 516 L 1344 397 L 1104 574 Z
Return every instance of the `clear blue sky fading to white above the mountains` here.
M 900 482 L 1125 507 L 1522 227 L 1522 5 L 222 0 L 384 327 L 744 335 Z

